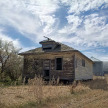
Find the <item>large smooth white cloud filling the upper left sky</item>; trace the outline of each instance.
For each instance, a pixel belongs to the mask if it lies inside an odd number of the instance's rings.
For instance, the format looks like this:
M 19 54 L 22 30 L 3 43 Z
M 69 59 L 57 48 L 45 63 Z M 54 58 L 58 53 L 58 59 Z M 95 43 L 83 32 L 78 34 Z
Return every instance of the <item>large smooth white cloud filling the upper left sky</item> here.
M 59 8 L 57 4 L 57 0 L 0 1 L 0 24 L 12 26 L 36 42 L 52 32 L 56 20 L 52 14 Z

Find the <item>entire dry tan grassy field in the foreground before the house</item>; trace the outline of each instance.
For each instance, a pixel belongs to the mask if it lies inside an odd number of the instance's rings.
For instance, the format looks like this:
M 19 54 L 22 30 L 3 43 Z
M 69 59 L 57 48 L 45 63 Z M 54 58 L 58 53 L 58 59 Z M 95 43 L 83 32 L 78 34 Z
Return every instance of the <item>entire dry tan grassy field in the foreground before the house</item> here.
M 29 85 L 0 87 L 0 108 L 108 108 L 108 77 L 73 85 Z

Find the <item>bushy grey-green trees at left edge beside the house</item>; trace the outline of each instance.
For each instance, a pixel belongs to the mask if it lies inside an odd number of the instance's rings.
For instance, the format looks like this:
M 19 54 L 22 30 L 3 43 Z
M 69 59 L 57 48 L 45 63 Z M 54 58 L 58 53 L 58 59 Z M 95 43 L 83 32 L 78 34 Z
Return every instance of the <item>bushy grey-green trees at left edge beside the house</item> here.
M 21 82 L 23 59 L 18 55 L 20 49 L 12 42 L 0 40 L 0 83 L 10 85 Z

